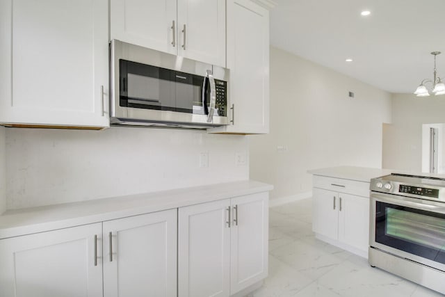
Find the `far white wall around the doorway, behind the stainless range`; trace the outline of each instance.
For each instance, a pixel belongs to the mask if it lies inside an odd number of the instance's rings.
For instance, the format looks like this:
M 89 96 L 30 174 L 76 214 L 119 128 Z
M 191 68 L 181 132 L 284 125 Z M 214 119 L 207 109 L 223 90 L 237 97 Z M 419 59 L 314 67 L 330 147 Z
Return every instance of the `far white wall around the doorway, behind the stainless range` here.
M 414 86 L 415 88 L 415 86 Z M 392 96 L 392 124 L 383 135 L 383 167 L 422 170 L 422 125 L 445 122 L 445 95 Z

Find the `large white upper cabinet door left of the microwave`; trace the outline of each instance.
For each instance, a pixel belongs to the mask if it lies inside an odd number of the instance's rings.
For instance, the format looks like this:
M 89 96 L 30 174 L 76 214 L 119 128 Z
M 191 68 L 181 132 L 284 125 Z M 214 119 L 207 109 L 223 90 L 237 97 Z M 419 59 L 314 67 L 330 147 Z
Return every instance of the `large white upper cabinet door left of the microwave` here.
M 108 127 L 108 1 L 0 2 L 0 122 Z

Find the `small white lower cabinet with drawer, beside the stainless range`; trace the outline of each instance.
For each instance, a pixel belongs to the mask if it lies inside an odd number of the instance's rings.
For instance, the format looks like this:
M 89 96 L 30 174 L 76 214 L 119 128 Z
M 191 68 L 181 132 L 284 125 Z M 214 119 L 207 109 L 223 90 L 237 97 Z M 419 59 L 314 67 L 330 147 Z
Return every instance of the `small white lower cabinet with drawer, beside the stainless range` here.
M 347 191 L 348 184 L 344 187 Z M 330 243 L 366 257 L 369 248 L 369 198 L 313 188 L 312 229 L 323 239 L 332 240 Z

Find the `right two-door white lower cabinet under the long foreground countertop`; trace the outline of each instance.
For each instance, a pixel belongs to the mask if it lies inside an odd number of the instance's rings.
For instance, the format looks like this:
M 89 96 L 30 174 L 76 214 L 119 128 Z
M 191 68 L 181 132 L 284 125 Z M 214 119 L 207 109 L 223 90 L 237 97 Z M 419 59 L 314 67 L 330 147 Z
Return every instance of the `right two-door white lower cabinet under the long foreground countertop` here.
M 179 208 L 178 296 L 230 296 L 267 275 L 268 193 Z

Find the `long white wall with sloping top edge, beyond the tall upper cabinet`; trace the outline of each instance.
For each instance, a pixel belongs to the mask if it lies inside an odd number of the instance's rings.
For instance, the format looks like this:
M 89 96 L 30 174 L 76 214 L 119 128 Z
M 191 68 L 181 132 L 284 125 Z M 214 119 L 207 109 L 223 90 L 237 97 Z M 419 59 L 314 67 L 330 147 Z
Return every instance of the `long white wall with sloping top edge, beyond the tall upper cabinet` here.
M 285 198 L 311 191 L 310 169 L 381 168 L 382 122 L 391 120 L 390 97 L 271 47 L 270 134 L 250 136 L 250 178 L 273 184 L 271 198 Z

